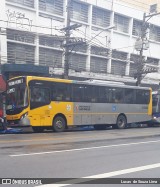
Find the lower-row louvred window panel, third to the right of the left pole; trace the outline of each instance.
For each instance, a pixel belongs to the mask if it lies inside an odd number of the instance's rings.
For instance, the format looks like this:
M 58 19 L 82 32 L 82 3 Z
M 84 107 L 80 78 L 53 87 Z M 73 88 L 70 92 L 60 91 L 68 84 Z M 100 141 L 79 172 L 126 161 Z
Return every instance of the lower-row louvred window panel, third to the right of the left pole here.
M 111 73 L 115 75 L 124 76 L 126 71 L 126 63 L 112 60 Z

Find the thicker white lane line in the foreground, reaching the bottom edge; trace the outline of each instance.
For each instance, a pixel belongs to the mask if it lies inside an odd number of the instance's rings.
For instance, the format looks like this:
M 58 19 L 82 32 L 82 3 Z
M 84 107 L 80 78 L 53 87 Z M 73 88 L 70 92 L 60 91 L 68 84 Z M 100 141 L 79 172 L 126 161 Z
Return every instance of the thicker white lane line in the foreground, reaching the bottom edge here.
M 82 183 L 82 182 L 88 182 L 88 181 L 92 181 L 95 179 L 115 177 L 118 175 L 124 175 L 124 174 L 129 174 L 129 173 L 134 173 L 134 172 L 139 172 L 139 171 L 144 171 L 144 170 L 149 170 L 149 169 L 155 169 L 155 168 L 159 168 L 159 167 L 160 167 L 160 163 L 156 163 L 156 164 L 150 164 L 150 165 L 145 165 L 145 166 L 140 166 L 140 167 L 112 171 L 112 172 L 108 172 L 108 173 L 102 173 L 102 174 L 98 174 L 98 175 L 86 176 L 86 177 L 82 177 L 79 179 L 66 180 L 66 181 L 62 181 L 63 184 L 62 184 L 62 182 L 61 183 L 59 182 L 57 184 L 56 183 L 55 184 L 45 184 L 45 185 L 39 185 L 37 187 L 62 187 L 62 186 L 68 186 L 68 185 L 78 184 L 78 183 Z

